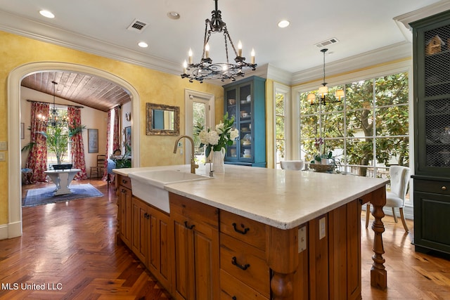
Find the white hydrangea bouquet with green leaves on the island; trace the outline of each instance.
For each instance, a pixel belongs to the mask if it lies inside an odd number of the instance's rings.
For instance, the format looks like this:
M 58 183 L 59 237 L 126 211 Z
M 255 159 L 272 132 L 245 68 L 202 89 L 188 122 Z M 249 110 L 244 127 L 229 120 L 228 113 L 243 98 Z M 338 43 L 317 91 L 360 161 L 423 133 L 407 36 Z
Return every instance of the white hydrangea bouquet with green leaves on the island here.
M 209 157 L 211 151 L 226 150 L 227 145 L 233 145 L 233 141 L 239 136 L 238 129 L 233 129 L 234 116 L 229 118 L 228 112 L 224 119 L 216 125 L 215 130 L 204 129 L 202 125 L 195 126 L 195 133 L 200 139 L 200 147 L 206 146 L 205 156 Z

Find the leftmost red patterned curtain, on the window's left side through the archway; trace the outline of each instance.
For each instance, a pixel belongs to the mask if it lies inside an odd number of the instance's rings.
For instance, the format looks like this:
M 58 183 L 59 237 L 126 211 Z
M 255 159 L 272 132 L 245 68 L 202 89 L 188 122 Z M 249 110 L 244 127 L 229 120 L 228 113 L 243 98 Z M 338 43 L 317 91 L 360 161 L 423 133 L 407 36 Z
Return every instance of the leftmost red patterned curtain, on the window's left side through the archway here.
M 32 182 L 45 182 L 47 170 L 47 142 L 45 136 L 38 133 L 47 131 L 47 122 L 49 118 L 49 104 L 36 103 L 31 104 L 31 139 L 34 143 L 30 153 L 28 153 L 26 167 L 33 170 Z

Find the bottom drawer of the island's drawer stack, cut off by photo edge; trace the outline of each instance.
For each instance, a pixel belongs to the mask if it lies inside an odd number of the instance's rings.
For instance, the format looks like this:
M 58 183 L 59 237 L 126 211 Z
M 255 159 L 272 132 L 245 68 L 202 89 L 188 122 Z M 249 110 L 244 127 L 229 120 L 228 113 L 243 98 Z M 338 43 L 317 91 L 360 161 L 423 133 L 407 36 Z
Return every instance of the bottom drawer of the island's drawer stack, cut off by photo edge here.
M 220 289 L 220 300 L 269 300 L 224 270 L 220 270 Z

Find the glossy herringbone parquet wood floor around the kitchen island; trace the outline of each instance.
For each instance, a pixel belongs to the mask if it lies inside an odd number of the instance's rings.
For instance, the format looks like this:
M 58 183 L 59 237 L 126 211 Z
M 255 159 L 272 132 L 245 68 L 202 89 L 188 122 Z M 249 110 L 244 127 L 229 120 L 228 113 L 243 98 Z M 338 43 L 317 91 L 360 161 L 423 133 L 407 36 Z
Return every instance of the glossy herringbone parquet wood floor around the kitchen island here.
M 23 208 L 23 236 L 0 241 L 0 299 L 169 299 L 136 256 L 116 244 L 113 186 L 87 182 L 105 196 Z M 361 219 L 363 299 L 450 299 L 449 257 L 414 252 L 412 234 L 389 216 L 383 219 L 388 288 L 371 288 L 373 231 Z

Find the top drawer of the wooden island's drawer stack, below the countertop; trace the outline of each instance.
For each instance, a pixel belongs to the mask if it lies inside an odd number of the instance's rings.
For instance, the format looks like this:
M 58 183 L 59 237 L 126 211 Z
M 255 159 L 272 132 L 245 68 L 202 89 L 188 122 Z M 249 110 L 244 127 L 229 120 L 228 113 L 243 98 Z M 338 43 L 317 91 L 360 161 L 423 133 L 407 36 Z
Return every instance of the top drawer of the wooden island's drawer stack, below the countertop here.
M 220 232 L 266 251 L 266 225 L 228 211 L 220 211 Z

